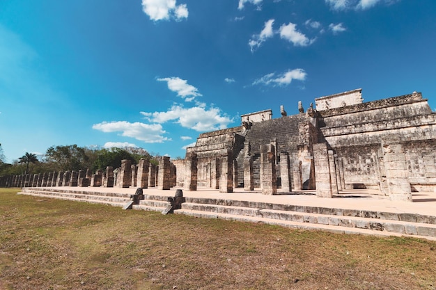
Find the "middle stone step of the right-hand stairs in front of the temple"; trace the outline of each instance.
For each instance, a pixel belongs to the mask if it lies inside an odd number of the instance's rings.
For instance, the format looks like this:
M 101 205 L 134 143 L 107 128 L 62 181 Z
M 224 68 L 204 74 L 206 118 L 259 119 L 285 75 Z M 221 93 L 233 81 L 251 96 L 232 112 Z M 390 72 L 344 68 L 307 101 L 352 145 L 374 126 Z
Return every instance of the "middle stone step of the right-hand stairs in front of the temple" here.
M 333 214 L 314 214 L 300 211 L 259 209 L 255 207 L 238 207 L 218 204 L 196 204 L 191 202 L 183 203 L 182 210 L 436 237 L 436 225 L 405 222 L 401 220 L 383 220 L 380 218 L 365 218 L 359 216 L 337 216 Z M 181 211 L 177 210 L 175 212 L 180 213 Z

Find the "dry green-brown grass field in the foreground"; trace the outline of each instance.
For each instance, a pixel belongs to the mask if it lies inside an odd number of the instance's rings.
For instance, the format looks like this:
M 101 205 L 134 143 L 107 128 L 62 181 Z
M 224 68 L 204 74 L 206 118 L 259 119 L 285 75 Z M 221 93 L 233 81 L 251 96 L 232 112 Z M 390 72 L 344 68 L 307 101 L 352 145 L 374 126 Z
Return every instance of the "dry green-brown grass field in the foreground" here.
M 436 289 L 436 243 L 164 216 L 0 188 L 3 289 Z

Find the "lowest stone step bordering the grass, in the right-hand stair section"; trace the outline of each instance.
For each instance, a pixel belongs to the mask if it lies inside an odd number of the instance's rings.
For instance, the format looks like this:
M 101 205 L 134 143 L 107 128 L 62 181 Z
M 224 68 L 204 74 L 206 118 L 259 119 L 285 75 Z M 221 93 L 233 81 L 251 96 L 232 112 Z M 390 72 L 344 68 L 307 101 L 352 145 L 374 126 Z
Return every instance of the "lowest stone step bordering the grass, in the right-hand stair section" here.
M 333 232 L 338 234 L 364 234 L 372 236 L 407 236 L 419 239 L 428 239 L 436 241 L 436 236 L 421 236 L 417 234 L 401 234 L 398 232 L 376 231 L 373 229 L 362 229 L 359 227 L 344 227 L 341 225 L 324 225 L 319 223 L 300 223 L 292 220 L 277 220 L 259 216 L 241 216 L 237 214 L 221 214 L 207 211 L 196 211 L 190 209 L 178 209 L 174 214 L 185 214 L 197 218 L 221 218 L 224 220 L 237 220 L 249 223 L 265 223 L 269 225 L 280 225 L 282 227 L 291 227 L 296 229 L 322 230 L 325 232 Z

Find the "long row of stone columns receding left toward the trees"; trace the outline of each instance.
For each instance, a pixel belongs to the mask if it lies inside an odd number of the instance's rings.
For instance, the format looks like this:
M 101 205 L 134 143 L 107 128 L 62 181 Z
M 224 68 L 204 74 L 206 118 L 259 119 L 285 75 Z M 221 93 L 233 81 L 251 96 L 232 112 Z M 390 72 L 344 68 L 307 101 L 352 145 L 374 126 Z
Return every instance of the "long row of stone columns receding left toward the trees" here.
M 91 170 L 38 173 L 34 175 L 15 175 L 2 177 L 0 185 L 5 187 L 46 187 L 46 186 L 80 186 L 80 187 L 123 187 L 130 186 L 148 188 L 157 187 L 167 190 L 176 186 L 176 166 L 167 156 L 159 157 L 156 166 L 146 159 L 139 164 L 130 160 L 121 161 L 120 168 L 107 166 L 106 170 Z

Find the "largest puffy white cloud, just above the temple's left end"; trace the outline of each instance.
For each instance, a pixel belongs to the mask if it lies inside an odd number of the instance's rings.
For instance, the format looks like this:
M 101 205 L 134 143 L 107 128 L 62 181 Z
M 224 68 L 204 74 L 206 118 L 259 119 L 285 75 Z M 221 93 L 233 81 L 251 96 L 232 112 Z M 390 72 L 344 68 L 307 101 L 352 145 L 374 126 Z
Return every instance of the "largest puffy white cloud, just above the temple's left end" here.
M 169 121 L 175 121 L 182 127 L 194 129 L 196 131 L 225 129 L 228 124 L 233 122 L 233 120 L 227 115 L 223 115 L 219 108 L 206 109 L 199 106 L 184 108 L 180 105 L 174 105 L 166 112 L 141 112 L 141 114 L 150 122 L 162 124 Z

